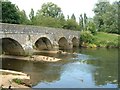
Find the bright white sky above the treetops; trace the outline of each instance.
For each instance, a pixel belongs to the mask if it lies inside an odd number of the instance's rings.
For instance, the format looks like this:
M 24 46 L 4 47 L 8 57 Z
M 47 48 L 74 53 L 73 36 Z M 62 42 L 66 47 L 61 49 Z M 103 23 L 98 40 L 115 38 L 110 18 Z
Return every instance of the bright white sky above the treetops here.
M 80 14 L 86 13 L 88 17 L 93 17 L 94 12 L 92 11 L 98 0 L 9 0 L 13 4 L 16 4 L 20 10 L 25 10 L 27 16 L 34 9 L 35 13 L 41 9 L 43 3 L 53 2 L 57 4 L 65 15 L 71 16 L 73 13 L 78 19 Z M 109 0 L 111 3 L 116 0 Z

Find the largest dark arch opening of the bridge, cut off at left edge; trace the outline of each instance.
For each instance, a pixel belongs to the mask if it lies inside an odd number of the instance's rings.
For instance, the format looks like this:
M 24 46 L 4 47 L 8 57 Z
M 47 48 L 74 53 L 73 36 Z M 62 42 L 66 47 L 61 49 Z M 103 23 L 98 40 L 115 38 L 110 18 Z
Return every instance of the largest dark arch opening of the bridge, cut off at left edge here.
M 12 38 L 0 39 L 1 54 L 5 55 L 24 55 L 24 49 L 20 43 Z

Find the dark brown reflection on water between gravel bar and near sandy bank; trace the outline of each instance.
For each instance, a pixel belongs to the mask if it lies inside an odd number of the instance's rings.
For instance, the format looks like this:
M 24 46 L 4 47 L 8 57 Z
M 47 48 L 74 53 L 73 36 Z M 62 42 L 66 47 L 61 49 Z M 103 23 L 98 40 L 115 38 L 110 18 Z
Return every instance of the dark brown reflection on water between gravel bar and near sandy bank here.
M 60 79 L 61 74 L 61 66 L 59 64 L 52 65 L 52 63 L 46 62 L 3 59 L 2 68 L 29 74 L 33 84 L 41 81 L 57 81 Z

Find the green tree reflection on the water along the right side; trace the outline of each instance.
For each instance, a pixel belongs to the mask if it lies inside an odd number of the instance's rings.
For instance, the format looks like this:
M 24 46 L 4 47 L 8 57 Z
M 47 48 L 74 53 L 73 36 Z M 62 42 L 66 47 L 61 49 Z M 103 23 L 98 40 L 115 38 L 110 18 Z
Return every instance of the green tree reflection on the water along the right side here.
M 97 66 L 93 74 L 96 85 L 108 83 L 118 84 L 118 51 L 117 49 L 82 50 L 81 53 L 99 57 L 96 60 L 88 60 L 88 64 Z

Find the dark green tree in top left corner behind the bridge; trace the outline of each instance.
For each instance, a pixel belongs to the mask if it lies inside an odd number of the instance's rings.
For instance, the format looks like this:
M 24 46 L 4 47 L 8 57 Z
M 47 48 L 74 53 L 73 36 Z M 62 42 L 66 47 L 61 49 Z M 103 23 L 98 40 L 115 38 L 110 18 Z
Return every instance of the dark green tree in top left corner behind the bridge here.
M 1 2 L 2 3 L 2 23 L 20 23 L 20 16 L 17 11 L 15 4 L 11 2 Z

